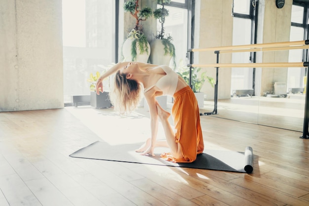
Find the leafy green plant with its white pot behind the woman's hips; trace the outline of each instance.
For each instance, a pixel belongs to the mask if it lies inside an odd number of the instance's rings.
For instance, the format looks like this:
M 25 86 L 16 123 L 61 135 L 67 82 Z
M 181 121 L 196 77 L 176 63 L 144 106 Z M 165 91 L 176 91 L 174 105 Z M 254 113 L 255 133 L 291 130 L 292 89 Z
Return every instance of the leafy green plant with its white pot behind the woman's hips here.
M 182 64 L 181 64 L 182 65 Z M 192 78 L 191 78 L 191 87 L 197 99 L 198 107 L 204 107 L 204 93 L 200 91 L 203 84 L 207 80 L 214 87 L 215 80 L 212 77 L 206 76 L 206 72 L 202 72 L 200 78 L 197 78 L 197 74 L 200 72 L 200 67 L 193 67 Z M 178 74 L 188 83 L 190 82 L 190 68 L 187 66 L 180 66 L 178 68 Z

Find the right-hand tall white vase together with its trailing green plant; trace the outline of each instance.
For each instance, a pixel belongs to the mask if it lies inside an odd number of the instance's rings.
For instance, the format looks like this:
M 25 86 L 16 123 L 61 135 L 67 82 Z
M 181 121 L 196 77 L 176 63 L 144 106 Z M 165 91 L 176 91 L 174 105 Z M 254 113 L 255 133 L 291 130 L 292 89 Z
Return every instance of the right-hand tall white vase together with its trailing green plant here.
M 154 10 L 154 18 L 158 19 L 161 24 L 161 29 L 157 32 L 155 39 L 150 44 L 152 50 L 150 60 L 153 64 L 169 65 L 171 58 L 173 58 L 173 66 L 175 68 L 175 46 L 172 43 L 173 38 L 171 36 L 166 37 L 164 29 L 165 18 L 169 15 L 169 11 L 164 6 L 170 2 L 171 0 L 157 0 L 157 4 L 160 7 Z M 163 56 L 162 53 L 164 54 Z

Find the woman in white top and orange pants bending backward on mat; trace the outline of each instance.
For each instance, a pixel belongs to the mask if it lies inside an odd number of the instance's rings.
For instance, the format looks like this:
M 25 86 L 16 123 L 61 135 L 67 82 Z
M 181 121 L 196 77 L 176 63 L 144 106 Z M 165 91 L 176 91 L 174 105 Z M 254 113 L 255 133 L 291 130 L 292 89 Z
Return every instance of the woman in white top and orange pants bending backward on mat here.
M 188 84 L 171 68 L 139 62 L 117 63 L 97 81 L 97 94 L 103 92 L 102 81 L 116 73 L 114 92 L 111 94 L 115 109 L 120 113 L 137 107 L 143 88 L 151 117 L 151 138 L 136 152 L 154 156 L 154 148 L 167 146 L 171 152 L 162 154 L 167 161 L 191 163 L 203 152 L 204 143 L 195 95 Z M 174 97 L 172 115 L 176 133 L 168 122 L 170 113 L 162 109 L 156 96 Z M 158 119 L 164 129 L 166 141 L 156 141 Z

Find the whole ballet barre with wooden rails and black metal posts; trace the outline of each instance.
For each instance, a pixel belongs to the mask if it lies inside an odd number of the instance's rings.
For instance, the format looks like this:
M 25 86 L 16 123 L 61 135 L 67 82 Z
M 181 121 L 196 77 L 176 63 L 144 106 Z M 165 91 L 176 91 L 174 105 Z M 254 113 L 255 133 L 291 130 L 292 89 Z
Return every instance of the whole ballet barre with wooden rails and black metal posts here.
M 258 52 L 258 51 L 280 51 L 291 49 L 309 49 L 309 40 L 304 41 L 285 41 L 273 43 L 257 43 L 246 45 L 234 46 L 218 46 L 208 48 L 191 48 L 188 49 L 188 56 L 190 63 L 189 85 L 192 87 L 192 70 L 193 67 L 215 67 L 216 68 L 216 82 L 214 84 L 214 110 L 212 112 L 205 112 L 201 115 L 217 114 L 218 105 L 218 74 L 219 68 L 231 67 L 245 67 L 245 68 L 287 68 L 287 67 L 307 67 L 307 82 L 306 82 L 306 99 L 305 99 L 305 114 L 304 114 L 304 127 L 303 136 L 301 138 L 309 139 L 309 62 L 276 62 L 276 63 L 219 63 L 219 54 L 221 53 L 234 53 L 234 52 Z M 193 63 L 193 52 L 214 51 L 217 54 L 217 61 L 215 64 L 195 64 Z

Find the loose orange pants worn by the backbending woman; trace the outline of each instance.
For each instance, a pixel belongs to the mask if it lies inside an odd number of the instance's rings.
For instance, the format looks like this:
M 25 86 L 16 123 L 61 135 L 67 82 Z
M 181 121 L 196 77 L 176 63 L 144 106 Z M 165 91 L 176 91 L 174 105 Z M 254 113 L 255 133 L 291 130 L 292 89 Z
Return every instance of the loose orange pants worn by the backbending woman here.
M 161 154 L 161 158 L 175 163 L 192 163 L 204 150 L 197 100 L 190 86 L 177 91 L 173 97 L 176 142 L 180 143 L 184 158 L 175 159 L 170 153 Z

